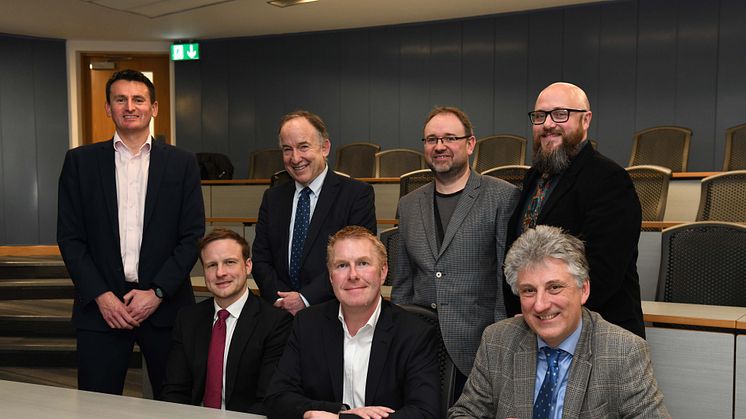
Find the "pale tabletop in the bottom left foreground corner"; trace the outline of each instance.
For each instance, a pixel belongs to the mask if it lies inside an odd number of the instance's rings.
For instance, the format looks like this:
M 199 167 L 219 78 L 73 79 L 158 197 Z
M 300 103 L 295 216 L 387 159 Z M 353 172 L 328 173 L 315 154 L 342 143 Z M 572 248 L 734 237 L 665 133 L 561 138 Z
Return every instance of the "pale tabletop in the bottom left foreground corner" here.
M 5 418 L 264 418 L 264 416 L 259 415 L 229 412 L 200 406 L 2 380 L 0 380 L 0 406 L 2 406 L 0 416 Z

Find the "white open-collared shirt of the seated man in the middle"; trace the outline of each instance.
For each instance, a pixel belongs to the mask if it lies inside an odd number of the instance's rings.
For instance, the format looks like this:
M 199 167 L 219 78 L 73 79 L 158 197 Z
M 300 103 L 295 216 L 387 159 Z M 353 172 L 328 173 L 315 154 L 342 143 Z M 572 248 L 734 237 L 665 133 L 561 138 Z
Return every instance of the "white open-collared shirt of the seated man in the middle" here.
M 368 322 L 350 335 L 347 323 L 339 307 L 338 318 L 344 329 L 344 385 L 342 387 L 342 403 L 351 409 L 365 406 L 365 385 L 368 381 L 368 364 L 370 363 L 370 348 L 373 344 L 373 334 L 376 331 L 378 318 L 381 316 L 381 298 Z

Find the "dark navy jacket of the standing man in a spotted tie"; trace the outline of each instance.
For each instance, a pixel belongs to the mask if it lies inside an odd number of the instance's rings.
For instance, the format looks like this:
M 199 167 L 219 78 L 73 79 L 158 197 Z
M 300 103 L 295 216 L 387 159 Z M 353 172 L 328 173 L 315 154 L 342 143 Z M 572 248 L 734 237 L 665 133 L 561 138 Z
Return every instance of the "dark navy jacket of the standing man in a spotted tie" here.
M 293 181 L 264 192 L 252 252 L 253 277 L 262 297 L 269 302 L 275 302 L 277 291 L 299 291 L 309 304 L 317 304 L 334 298 L 326 269 L 329 236 L 349 225 L 363 226 L 375 234 L 375 195 L 369 184 L 329 169 L 303 246 L 301 288 L 293 290 L 288 273 L 288 247 L 294 195 Z

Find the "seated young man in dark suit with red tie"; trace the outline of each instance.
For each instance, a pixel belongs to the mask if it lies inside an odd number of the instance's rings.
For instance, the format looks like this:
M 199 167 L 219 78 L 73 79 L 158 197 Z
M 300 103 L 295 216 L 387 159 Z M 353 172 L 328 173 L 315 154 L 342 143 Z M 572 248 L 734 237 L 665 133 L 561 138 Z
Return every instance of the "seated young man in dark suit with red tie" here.
M 292 316 L 249 291 L 251 251 L 238 233 L 217 228 L 200 249 L 213 298 L 179 312 L 163 399 L 263 414 Z

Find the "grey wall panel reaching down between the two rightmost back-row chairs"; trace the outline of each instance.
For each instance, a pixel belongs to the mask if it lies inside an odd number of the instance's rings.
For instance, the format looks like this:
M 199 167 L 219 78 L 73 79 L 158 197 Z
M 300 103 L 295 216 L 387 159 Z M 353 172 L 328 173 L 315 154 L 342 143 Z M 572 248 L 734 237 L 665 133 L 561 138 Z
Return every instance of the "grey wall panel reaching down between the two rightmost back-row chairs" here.
M 688 170 L 708 171 L 722 154 L 714 141 L 719 7 L 699 0 L 680 0 L 678 6 L 674 123 L 694 131 Z

